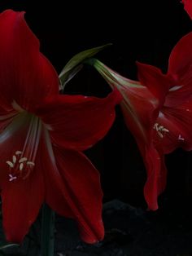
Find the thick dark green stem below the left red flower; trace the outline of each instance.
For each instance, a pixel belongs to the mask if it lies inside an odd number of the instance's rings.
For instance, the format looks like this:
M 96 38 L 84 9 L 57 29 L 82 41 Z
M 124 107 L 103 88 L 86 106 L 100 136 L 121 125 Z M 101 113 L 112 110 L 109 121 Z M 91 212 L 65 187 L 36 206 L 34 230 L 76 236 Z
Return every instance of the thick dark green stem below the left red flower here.
M 54 256 L 55 213 L 46 204 L 42 207 L 41 256 Z

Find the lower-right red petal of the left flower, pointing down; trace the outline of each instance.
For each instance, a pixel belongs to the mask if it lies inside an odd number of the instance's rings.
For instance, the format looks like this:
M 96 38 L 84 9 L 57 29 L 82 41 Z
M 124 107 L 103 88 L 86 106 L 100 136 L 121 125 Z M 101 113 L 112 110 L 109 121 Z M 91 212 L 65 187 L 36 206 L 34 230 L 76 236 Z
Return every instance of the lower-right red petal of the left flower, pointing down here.
M 87 243 L 94 243 L 103 239 L 102 200 L 103 193 L 99 181 L 98 171 L 90 161 L 81 153 L 68 150 L 52 151 L 48 137 L 46 138 L 46 151 L 42 162 L 46 166 L 45 179 L 54 183 L 63 194 L 62 201 L 55 201 L 46 193 L 50 206 L 59 210 L 66 216 L 76 218 L 81 233 L 81 238 Z M 55 157 L 54 157 L 55 155 Z M 51 161 L 51 164 L 50 164 Z M 48 183 L 48 182 L 47 182 Z M 51 190 L 52 191 L 52 190 Z M 52 201 L 52 202 L 51 202 Z M 64 206 L 62 202 L 64 201 Z M 66 207 L 68 204 L 68 209 Z M 58 204 L 58 205 L 57 205 Z

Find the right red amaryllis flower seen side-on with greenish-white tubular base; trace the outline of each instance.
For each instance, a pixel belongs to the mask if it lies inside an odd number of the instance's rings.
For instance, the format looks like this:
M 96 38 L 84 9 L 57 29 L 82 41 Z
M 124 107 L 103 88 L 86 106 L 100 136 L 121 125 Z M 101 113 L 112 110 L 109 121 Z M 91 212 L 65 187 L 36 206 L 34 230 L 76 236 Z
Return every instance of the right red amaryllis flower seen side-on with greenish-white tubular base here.
M 150 210 L 166 186 L 164 154 L 175 148 L 192 149 L 192 33 L 173 48 L 168 73 L 139 64 L 135 82 L 120 76 L 98 60 L 94 67 L 111 88 L 123 95 L 124 121 L 134 135 L 147 170 L 144 196 Z

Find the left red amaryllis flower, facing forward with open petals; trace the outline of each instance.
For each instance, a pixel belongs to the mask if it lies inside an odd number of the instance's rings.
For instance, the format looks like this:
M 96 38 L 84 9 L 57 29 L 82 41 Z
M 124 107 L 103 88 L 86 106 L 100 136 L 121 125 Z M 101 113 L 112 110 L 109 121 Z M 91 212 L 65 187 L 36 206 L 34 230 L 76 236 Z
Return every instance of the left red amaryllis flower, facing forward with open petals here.
M 20 242 L 44 201 L 75 218 L 81 238 L 103 239 L 98 171 L 81 152 L 106 135 L 120 94 L 59 95 L 24 12 L 0 15 L 0 188 L 8 241 Z

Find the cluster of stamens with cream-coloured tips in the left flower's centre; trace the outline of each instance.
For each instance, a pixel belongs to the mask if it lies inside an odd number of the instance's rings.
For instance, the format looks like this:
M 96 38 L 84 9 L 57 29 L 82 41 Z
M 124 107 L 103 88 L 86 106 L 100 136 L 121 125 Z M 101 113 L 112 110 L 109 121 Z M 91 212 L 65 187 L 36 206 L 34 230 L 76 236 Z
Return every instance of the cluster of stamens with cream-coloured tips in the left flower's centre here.
M 14 152 L 11 160 L 7 160 L 9 168 L 8 179 L 14 181 L 18 178 L 27 179 L 35 166 L 38 144 L 41 136 L 41 120 L 31 116 L 28 132 L 21 150 Z

